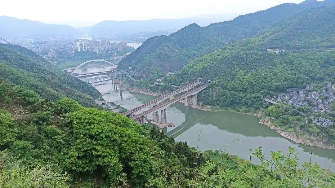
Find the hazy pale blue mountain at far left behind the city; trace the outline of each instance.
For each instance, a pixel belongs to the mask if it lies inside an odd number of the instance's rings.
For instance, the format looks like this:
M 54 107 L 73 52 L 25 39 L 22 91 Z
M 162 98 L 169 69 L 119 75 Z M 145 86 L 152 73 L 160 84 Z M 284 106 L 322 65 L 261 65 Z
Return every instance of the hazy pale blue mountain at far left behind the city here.
M 0 25 L 0 36 L 5 38 L 79 35 L 79 31 L 76 28 L 68 25 L 46 24 L 9 16 L 0 16 Z

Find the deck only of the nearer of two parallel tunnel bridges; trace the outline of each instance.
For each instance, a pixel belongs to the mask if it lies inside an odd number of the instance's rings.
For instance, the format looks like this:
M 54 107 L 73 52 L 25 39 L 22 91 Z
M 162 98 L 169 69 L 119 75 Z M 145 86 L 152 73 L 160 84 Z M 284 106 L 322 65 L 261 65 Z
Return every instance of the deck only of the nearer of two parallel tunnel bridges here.
M 141 117 L 141 116 L 145 116 L 145 115 L 147 115 L 147 114 L 149 114 L 149 113 L 152 113 L 152 112 L 156 112 L 156 111 L 158 111 L 158 110 L 161 110 L 161 108 L 164 109 L 164 108 L 170 106 L 171 104 L 173 104 L 173 103 L 179 101 L 179 100 L 182 99 L 182 98 L 185 98 L 185 97 L 188 97 L 188 96 L 190 96 L 190 95 L 194 95 L 195 93 L 200 92 L 201 90 L 205 89 L 206 87 L 208 87 L 208 84 L 203 85 L 203 86 L 201 86 L 201 87 L 199 87 L 199 88 L 196 88 L 196 89 L 194 89 L 194 90 L 191 90 L 191 91 L 189 91 L 189 92 L 187 92 L 187 93 L 185 93 L 185 94 L 183 94 L 183 95 L 181 95 L 181 96 L 178 96 L 178 97 L 176 97 L 176 98 L 174 98 L 174 99 L 172 99 L 172 100 L 169 100 L 169 101 L 166 101 L 166 102 L 164 102 L 164 103 L 162 103 L 162 104 L 159 104 L 159 105 L 157 105 L 157 106 L 155 106 L 155 107 L 153 107 L 153 108 L 151 108 L 151 109 L 149 109 L 149 110 L 147 110 L 147 111 L 145 111 L 145 112 L 142 112 L 142 113 L 140 113 L 140 114 L 138 114 L 138 115 L 135 115 L 135 116 L 132 117 L 131 119 L 134 120 L 134 119 L 137 119 L 137 118 L 139 118 L 139 117 Z

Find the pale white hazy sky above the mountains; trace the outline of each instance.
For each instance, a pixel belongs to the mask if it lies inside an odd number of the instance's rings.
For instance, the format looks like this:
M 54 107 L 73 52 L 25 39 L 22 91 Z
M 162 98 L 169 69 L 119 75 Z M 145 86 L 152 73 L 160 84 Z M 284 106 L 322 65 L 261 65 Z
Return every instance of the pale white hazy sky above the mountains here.
M 303 0 L 5 0 L 0 15 L 30 20 L 144 20 L 203 14 L 245 14 Z

